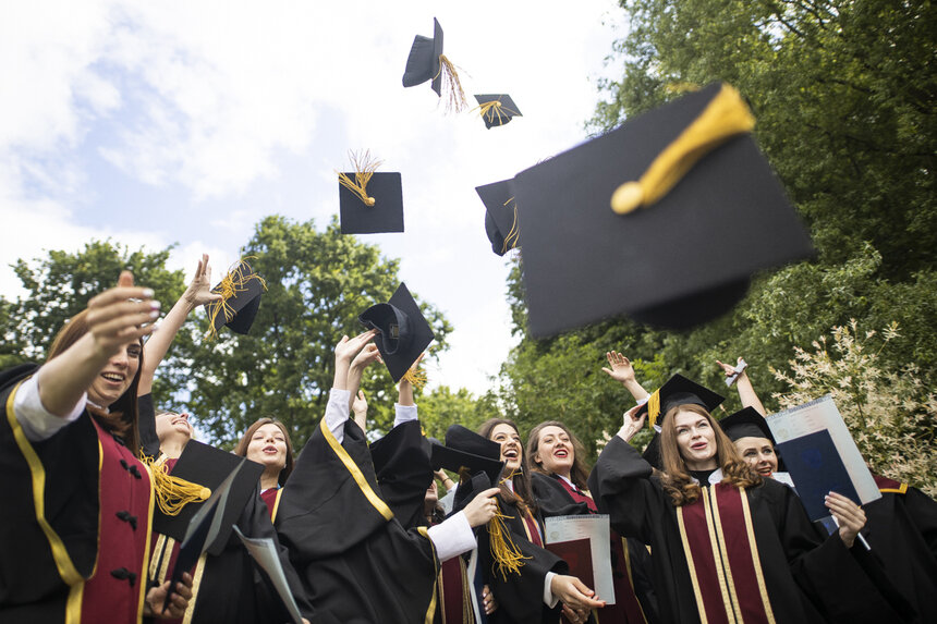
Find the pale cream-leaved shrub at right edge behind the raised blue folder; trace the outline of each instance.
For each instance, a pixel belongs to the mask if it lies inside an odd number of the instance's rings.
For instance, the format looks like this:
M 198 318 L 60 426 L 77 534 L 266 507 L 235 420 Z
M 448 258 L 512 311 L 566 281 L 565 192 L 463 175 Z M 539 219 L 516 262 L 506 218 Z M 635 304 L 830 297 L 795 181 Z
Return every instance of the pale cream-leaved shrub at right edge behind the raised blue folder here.
M 775 371 L 787 387 L 778 394 L 792 407 L 831 394 L 872 469 L 937 495 L 937 395 L 913 366 L 889 366 L 881 357 L 899 338 L 898 325 L 861 332 L 859 323 L 795 350 L 791 372 Z

